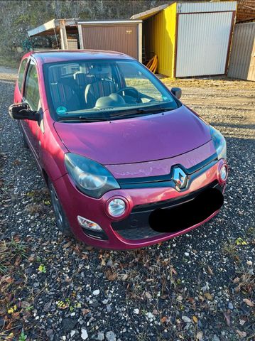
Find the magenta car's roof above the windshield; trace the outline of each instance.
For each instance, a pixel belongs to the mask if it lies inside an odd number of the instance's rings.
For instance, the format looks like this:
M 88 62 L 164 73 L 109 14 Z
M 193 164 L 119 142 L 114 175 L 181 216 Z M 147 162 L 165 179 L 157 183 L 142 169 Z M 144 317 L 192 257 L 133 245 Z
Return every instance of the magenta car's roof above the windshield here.
M 134 58 L 124 53 L 106 51 L 106 50 L 45 50 L 33 51 L 23 56 L 28 58 L 33 56 L 39 63 L 54 63 L 54 62 L 67 62 L 72 60 L 92 60 L 92 59 L 123 59 L 131 60 Z

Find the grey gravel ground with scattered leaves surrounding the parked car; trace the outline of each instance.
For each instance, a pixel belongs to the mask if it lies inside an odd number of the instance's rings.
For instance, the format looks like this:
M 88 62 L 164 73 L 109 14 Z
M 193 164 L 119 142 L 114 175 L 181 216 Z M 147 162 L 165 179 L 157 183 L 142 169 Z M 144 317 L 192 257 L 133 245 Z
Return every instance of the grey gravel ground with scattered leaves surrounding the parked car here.
M 0 340 L 254 340 L 254 83 L 175 83 L 227 138 L 219 215 L 161 245 L 103 251 L 58 232 L 9 119 L 14 78 L 0 75 Z

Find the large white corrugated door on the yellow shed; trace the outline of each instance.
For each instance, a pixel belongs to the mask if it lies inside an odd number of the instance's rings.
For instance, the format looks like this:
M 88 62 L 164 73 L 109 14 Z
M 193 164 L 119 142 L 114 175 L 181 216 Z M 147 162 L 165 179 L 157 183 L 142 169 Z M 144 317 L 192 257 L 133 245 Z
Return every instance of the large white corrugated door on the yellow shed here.
M 232 12 L 180 14 L 176 77 L 225 72 Z

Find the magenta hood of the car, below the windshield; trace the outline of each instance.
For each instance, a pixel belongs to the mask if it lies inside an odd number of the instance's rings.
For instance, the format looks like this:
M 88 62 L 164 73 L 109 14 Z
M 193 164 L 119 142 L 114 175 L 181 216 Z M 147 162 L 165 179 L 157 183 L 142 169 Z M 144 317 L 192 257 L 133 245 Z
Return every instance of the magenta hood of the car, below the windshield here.
M 211 139 L 209 126 L 185 106 L 132 119 L 54 125 L 71 153 L 104 165 L 171 158 Z

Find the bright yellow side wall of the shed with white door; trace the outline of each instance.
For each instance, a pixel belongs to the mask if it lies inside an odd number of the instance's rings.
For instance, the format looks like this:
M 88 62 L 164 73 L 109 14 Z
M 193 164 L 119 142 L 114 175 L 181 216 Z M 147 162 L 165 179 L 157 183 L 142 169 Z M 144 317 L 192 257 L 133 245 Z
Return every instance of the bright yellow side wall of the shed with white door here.
M 143 21 L 146 57 L 158 55 L 158 73 L 173 77 L 177 3 Z

